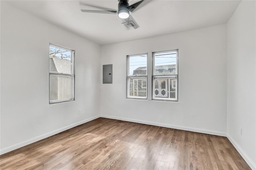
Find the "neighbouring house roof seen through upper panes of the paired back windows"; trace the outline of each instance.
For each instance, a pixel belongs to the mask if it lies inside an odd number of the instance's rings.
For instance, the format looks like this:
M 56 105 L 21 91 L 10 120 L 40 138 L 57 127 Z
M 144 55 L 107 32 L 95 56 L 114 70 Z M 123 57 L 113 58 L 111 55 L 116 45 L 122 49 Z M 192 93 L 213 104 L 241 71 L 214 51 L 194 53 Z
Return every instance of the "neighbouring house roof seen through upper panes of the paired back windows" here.
M 132 75 L 145 75 L 147 67 L 138 67 L 133 71 Z M 176 64 L 155 66 L 155 74 L 176 74 Z

